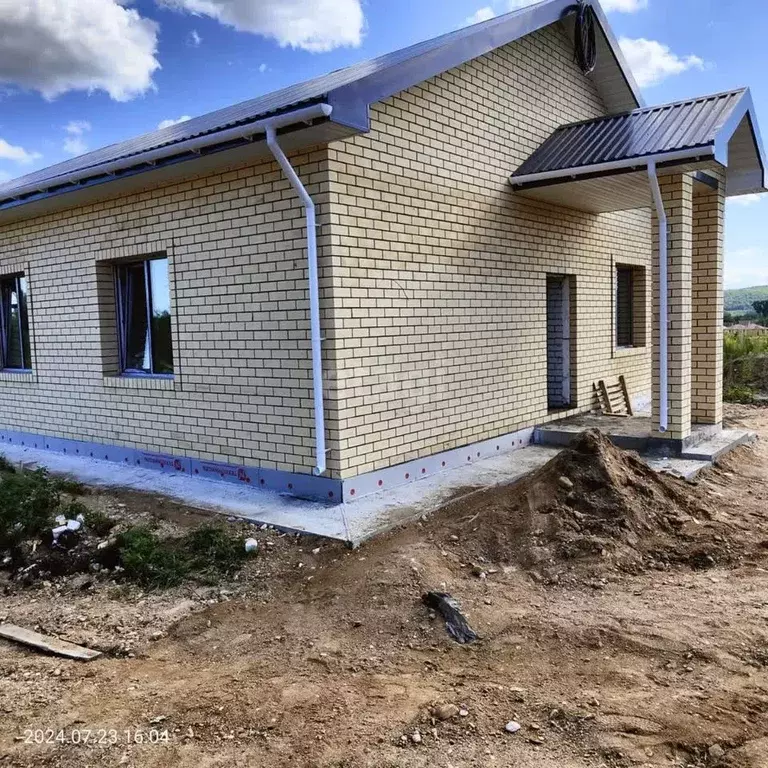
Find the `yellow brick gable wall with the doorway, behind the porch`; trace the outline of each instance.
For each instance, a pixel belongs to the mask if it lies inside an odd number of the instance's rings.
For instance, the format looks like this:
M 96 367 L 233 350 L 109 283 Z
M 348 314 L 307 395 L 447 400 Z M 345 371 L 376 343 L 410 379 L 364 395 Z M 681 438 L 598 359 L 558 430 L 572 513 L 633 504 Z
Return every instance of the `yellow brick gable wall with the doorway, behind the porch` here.
M 551 27 L 376 105 L 370 133 L 330 146 L 343 477 L 552 418 L 547 273 L 575 276 L 578 409 L 611 374 L 650 390 L 650 348 L 614 351 L 612 300 L 615 263 L 646 267 L 650 299 L 649 211 L 579 213 L 508 184 L 558 125 L 604 113 Z

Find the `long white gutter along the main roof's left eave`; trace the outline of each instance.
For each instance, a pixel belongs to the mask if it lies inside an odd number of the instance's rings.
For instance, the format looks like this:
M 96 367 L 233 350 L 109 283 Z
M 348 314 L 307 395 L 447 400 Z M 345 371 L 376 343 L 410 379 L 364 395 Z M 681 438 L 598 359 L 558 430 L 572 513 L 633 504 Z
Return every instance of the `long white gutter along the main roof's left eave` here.
M 59 187 L 65 184 L 77 184 L 94 176 L 117 174 L 120 171 L 127 171 L 137 165 L 152 165 L 154 163 L 167 160 L 176 155 L 185 152 L 200 152 L 207 147 L 216 144 L 224 144 L 228 141 L 238 139 L 250 139 L 257 135 L 263 135 L 267 128 L 284 128 L 288 125 L 308 122 L 317 118 L 328 117 L 332 108 L 329 104 L 313 104 L 309 107 L 286 112 L 282 115 L 267 117 L 263 120 L 256 120 L 248 125 L 241 125 L 235 128 L 227 128 L 223 131 L 206 134 L 205 136 L 196 136 L 192 139 L 177 141 L 173 144 L 167 144 L 157 149 L 151 149 L 147 152 L 137 152 L 134 155 L 123 157 L 120 160 L 112 160 L 107 163 L 97 163 L 96 165 L 78 168 L 76 171 L 64 173 L 60 176 L 54 176 L 36 184 L 27 184 L 24 187 L 14 189 L 9 199 L 18 199 L 24 195 L 35 192 L 47 192 L 52 187 Z

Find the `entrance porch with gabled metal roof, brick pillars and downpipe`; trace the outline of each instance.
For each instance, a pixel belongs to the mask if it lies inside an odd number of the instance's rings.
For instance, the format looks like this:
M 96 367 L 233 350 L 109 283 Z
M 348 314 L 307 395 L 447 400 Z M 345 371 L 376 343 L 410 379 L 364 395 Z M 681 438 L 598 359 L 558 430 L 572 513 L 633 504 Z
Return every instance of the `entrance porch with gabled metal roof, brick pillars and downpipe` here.
M 581 211 L 652 209 L 652 434 L 720 429 L 725 198 L 768 186 L 749 91 L 564 125 L 510 182 Z

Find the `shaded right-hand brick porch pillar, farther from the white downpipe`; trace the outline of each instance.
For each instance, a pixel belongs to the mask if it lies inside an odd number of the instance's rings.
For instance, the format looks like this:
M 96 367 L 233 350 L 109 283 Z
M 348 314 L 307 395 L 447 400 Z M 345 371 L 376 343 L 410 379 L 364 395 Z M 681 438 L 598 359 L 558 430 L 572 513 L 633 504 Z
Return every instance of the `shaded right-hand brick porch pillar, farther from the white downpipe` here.
M 711 189 L 696 184 L 693 198 L 693 351 L 691 417 L 694 424 L 723 420 L 723 233 L 725 176 Z

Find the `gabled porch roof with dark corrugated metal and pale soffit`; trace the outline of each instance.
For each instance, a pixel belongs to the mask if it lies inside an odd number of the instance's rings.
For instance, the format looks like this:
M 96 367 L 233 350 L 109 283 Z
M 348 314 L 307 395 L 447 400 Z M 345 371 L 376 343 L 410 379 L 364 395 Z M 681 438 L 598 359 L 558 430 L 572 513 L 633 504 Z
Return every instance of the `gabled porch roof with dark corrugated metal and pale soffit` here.
M 726 195 L 765 192 L 768 162 L 749 89 L 644 107 L 558 128 L 512 174 L 528 197 L 593 212 L 651 205 L 646 169 L 717 161 Z

